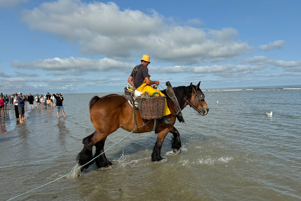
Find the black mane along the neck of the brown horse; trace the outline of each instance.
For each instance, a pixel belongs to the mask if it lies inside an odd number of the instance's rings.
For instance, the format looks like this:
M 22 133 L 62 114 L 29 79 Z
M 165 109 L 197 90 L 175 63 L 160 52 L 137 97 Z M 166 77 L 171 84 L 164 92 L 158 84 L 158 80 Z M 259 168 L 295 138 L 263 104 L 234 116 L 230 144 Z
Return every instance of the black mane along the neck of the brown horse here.
M 192 85 L 192 87 L 195 87 L 195 86 Z M 173 87 L 173 89 L 175 91 L 175 97 L 177 97 L 177 100 L 179 102 L 181 110 L 184 108 L 185 99 L 187 99 L 188 101 L 190 101 L 191 94 L 192 94 L 192 87 L 191 86 L 177 86 L 177 87 Z M 165 90 L 162 90 L 161 92 L 164 93 L 164 95 L 166 96 L 167 99 L 169 99 L 169 97 L 167 96 Z

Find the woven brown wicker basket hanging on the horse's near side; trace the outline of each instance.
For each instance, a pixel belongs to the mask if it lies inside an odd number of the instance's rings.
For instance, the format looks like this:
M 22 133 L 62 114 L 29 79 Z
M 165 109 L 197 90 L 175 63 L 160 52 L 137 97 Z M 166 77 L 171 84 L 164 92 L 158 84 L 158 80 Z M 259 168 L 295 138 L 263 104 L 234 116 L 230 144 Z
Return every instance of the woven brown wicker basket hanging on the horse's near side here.
M 160 119 L 164 114 L 164 105 L 165 105 L 166 96 L 153 96 L 150 98 L 141 98 L 137 97 L 135 102 L 140 105 L 140 115 L 142 119 Z

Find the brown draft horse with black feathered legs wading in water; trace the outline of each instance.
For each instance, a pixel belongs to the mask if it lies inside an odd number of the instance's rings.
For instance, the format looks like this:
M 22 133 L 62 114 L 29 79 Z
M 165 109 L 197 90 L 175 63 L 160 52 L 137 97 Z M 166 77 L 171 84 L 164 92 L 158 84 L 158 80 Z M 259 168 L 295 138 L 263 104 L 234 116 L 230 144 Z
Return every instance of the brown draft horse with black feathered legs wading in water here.
M 181 107 L 181 110 L 184 109 L 187 105 L 193 106 L 197 112 L 204 116 L 208 113 L 209 109 L 204 100 L 204 94 L 199 88 L 200 82 L 197 86 L 194 86 L 192 83 L 190 86 L 178 86 L 174 87 L 175 95 Z M 166 95 L 165 90 L 162 91 Z M 166 96 L 168 97 L 168 96 Z M 186 100 L 185 100 L 186 99 Z M 169 109 L 171 113 L 175 113 L 172 101 L 167 99 Z M 127 131 L 132 131 L 135 129 L 134 123 L 134 114 L 133 108 L 129 102 L 118 94 L 109 94 L 99 98 L 94 96 L 90 103 L 90 119 L 95 127 L 95 132 L 85 137 L 82 140 L 84 147 L 81 152 L 76 157 L 79 165 L 82 166 L 87 162 L 91 161 L 93 157 L 98 156 L 104 152 L 104 143 L 111 133 L 116 131 L 118 128 L 123 128 Z M 149 120 L 144 120 L 140 117 L 140 112 L 136 110 L 137 116 L 137 125 L 142 126 Z M 168 115 L 169 120 L 176 121 L 175 115 Z M 160 161 L 163 159 L 160 156 L 161 147 L 164 138 L 170 132 L 173 134 L 171 141 L 171 148 L 173 152 L 177 152 L 181 148 L 180 133 L 173 126 L 173 124 L 160 124 L 158 125 L 158 137 L 157 142 L 155 143 L 153 153 L 151 155 L 152 161 Z M 134 130 L 133 133 L 145 133 L 153 130 L 154 120 L 151 120 L 148 124 Z M 92 147 L 96 147 L 95 155 L 92 154 Z M 81 168 L 81 171 L 88 168 L 93 163 L 96 163 L 98 168 L 108 167 L 112 163 L 106 158 L 105 153 L 98 156 L 95 160 L 88 163 Z

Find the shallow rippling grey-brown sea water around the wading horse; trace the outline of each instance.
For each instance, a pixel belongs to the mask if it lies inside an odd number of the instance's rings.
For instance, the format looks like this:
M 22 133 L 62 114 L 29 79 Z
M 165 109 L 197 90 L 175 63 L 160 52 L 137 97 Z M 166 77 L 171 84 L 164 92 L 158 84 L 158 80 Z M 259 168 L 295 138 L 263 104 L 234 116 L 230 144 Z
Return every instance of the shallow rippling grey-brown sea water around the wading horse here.
M 92 165 L 79 177 L 64 177 L 14 200 L 300 200 L 301 90 L 293 88 L 206 90 L 208 115 L 187 107 L 186 124 L 175 124 L 180 154 L 171 151 L 168 134 L 164 159 L 151 162 L 157 135 L 133 133 L 106 152 L 111 168 Z M 5 111 L 0 166 L 48 159 L 82 146 L 82 138 L 94 132 L 88 110 L 94 95 L 107 93 L 65 94 L 66 118 L 60 114 L 58 119 L 55 108 L 30 110 L 26 104 L 28 120 L 20 124 L 13 109 Z M 270 111 L 272 117 L 264 114 Z M 104 148 L 128 133 L 118 129 Z M 0 200 L 69 173 L 80 150 L 0 168 Z

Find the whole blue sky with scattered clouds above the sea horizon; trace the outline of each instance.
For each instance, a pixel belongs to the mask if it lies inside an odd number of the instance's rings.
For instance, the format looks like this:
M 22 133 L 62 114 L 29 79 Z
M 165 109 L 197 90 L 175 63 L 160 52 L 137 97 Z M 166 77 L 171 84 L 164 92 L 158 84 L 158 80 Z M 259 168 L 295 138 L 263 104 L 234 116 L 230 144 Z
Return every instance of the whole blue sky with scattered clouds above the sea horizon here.
M 123 91 L 143 54 L 151 80 L 202 89 L 301 84 L 300 1 L 0 0 L 1 92 Z

